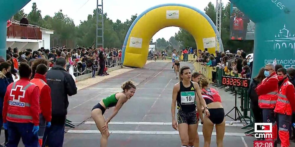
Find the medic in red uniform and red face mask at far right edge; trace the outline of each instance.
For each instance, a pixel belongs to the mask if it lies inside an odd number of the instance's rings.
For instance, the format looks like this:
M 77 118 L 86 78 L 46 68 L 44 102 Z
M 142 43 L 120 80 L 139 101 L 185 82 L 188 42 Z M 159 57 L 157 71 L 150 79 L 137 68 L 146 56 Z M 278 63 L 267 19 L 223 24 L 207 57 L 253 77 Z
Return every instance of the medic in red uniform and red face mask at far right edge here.
M 277 73 L 281 86 L 274 111 L 278 114 L 278 135 L 281 140 L 281 147 L 289 147 L 289 128 L 291 127 L 292 110 L 295 110 L 295 89 L 293 84 L 289 82 L 286 69 L 280 68 Z

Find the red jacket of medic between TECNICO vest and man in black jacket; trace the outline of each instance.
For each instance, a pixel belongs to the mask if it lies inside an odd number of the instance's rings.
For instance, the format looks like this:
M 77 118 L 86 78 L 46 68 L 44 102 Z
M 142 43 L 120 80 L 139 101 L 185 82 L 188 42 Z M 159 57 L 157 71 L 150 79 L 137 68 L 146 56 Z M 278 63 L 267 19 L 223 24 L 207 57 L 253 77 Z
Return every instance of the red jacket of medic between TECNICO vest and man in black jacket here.
M 39 87 L 40 91 L 40 110 L 47 122 L 51 121 L 51 89 L 46 84 L 46 78 L 44 75 L 35 74 L 31 80 L 32 83 Z

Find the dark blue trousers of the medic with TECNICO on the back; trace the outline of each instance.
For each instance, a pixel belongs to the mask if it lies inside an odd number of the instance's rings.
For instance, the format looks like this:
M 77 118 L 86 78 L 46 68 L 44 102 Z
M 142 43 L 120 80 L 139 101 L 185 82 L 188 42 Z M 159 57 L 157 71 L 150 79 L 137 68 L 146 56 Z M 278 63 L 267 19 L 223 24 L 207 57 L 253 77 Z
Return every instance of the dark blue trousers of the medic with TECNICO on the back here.
M 17 147 L 20 138 L 22 138 L 22 143 L 26 147 L 37 147 L 38 146 L 38 134 L 34 135 L 33 123 L 15 123 L 7 122 L 8 126 L 8 147 Z

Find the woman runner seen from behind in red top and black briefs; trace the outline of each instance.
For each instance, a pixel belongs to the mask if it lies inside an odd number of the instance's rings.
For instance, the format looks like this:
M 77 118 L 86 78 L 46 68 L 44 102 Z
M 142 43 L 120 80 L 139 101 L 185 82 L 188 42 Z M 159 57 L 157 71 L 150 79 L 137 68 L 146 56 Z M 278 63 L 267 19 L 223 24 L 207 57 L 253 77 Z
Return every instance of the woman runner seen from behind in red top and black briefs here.
M 201 122 L 203 123 L 204 147 L 210 146 L 214 124 L 216 128 L 217 147 L 222 147 L 225 132 L 225 118 L 221 98 L 215 89 L 208 88 L 209 82 L 205 78 L 201 78 L 200 85 L 202 88 L 202 96 L 210 112 L 210 116 L 208 118 L 205 117 L 204 122 Z

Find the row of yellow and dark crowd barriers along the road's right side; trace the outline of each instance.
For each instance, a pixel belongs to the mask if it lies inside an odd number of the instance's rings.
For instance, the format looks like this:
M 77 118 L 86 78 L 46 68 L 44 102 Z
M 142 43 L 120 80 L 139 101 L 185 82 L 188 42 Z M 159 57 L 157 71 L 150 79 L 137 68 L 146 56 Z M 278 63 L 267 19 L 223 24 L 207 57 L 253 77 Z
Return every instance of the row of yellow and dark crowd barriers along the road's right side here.
M 193 55 L 189 55 L 189 61 L 193 61 Z M 207 80 L 209 80 L 211 83 L 213 83 L 213 86 L 218 88 L 225 88 L 226 86 L 222 85 L 222 76 L 233 76 L 233 77 L 241 77 L 241 74 L 234 74 L 232 71 L 224 72 L 223 69 L 218 67 L 210 67 L 210 66 L 204 66 L 201 65 L 201 63 L 194 62 L 194 68 L 196 72 L 199 72 L 203 74 Z M 215 80 L 212 80 L 212 74 L 215 74 Z M 253 112 L 251 110 L 250 106 L 250 98 L 248 96 L 248 88 L 238 88 L 238 87 L 232 87 L 228 86 L 225 91 L 230 92 L 230 94 L 235 95 L 235 90 L 237 90 L 238 98 L 241 99 L 240 108 L 243 112 L 243 116 L 240 118 L 248 118 L 250 119 L 250 124 L 247 123 L 246 126 L 242 127 L 242 129 L 249 129 L 248 131 L 245 131 L 246 134 L 252 134 L 254 133 L 254 116 Z M 250 113 L 250 115 L 249 115 Z

